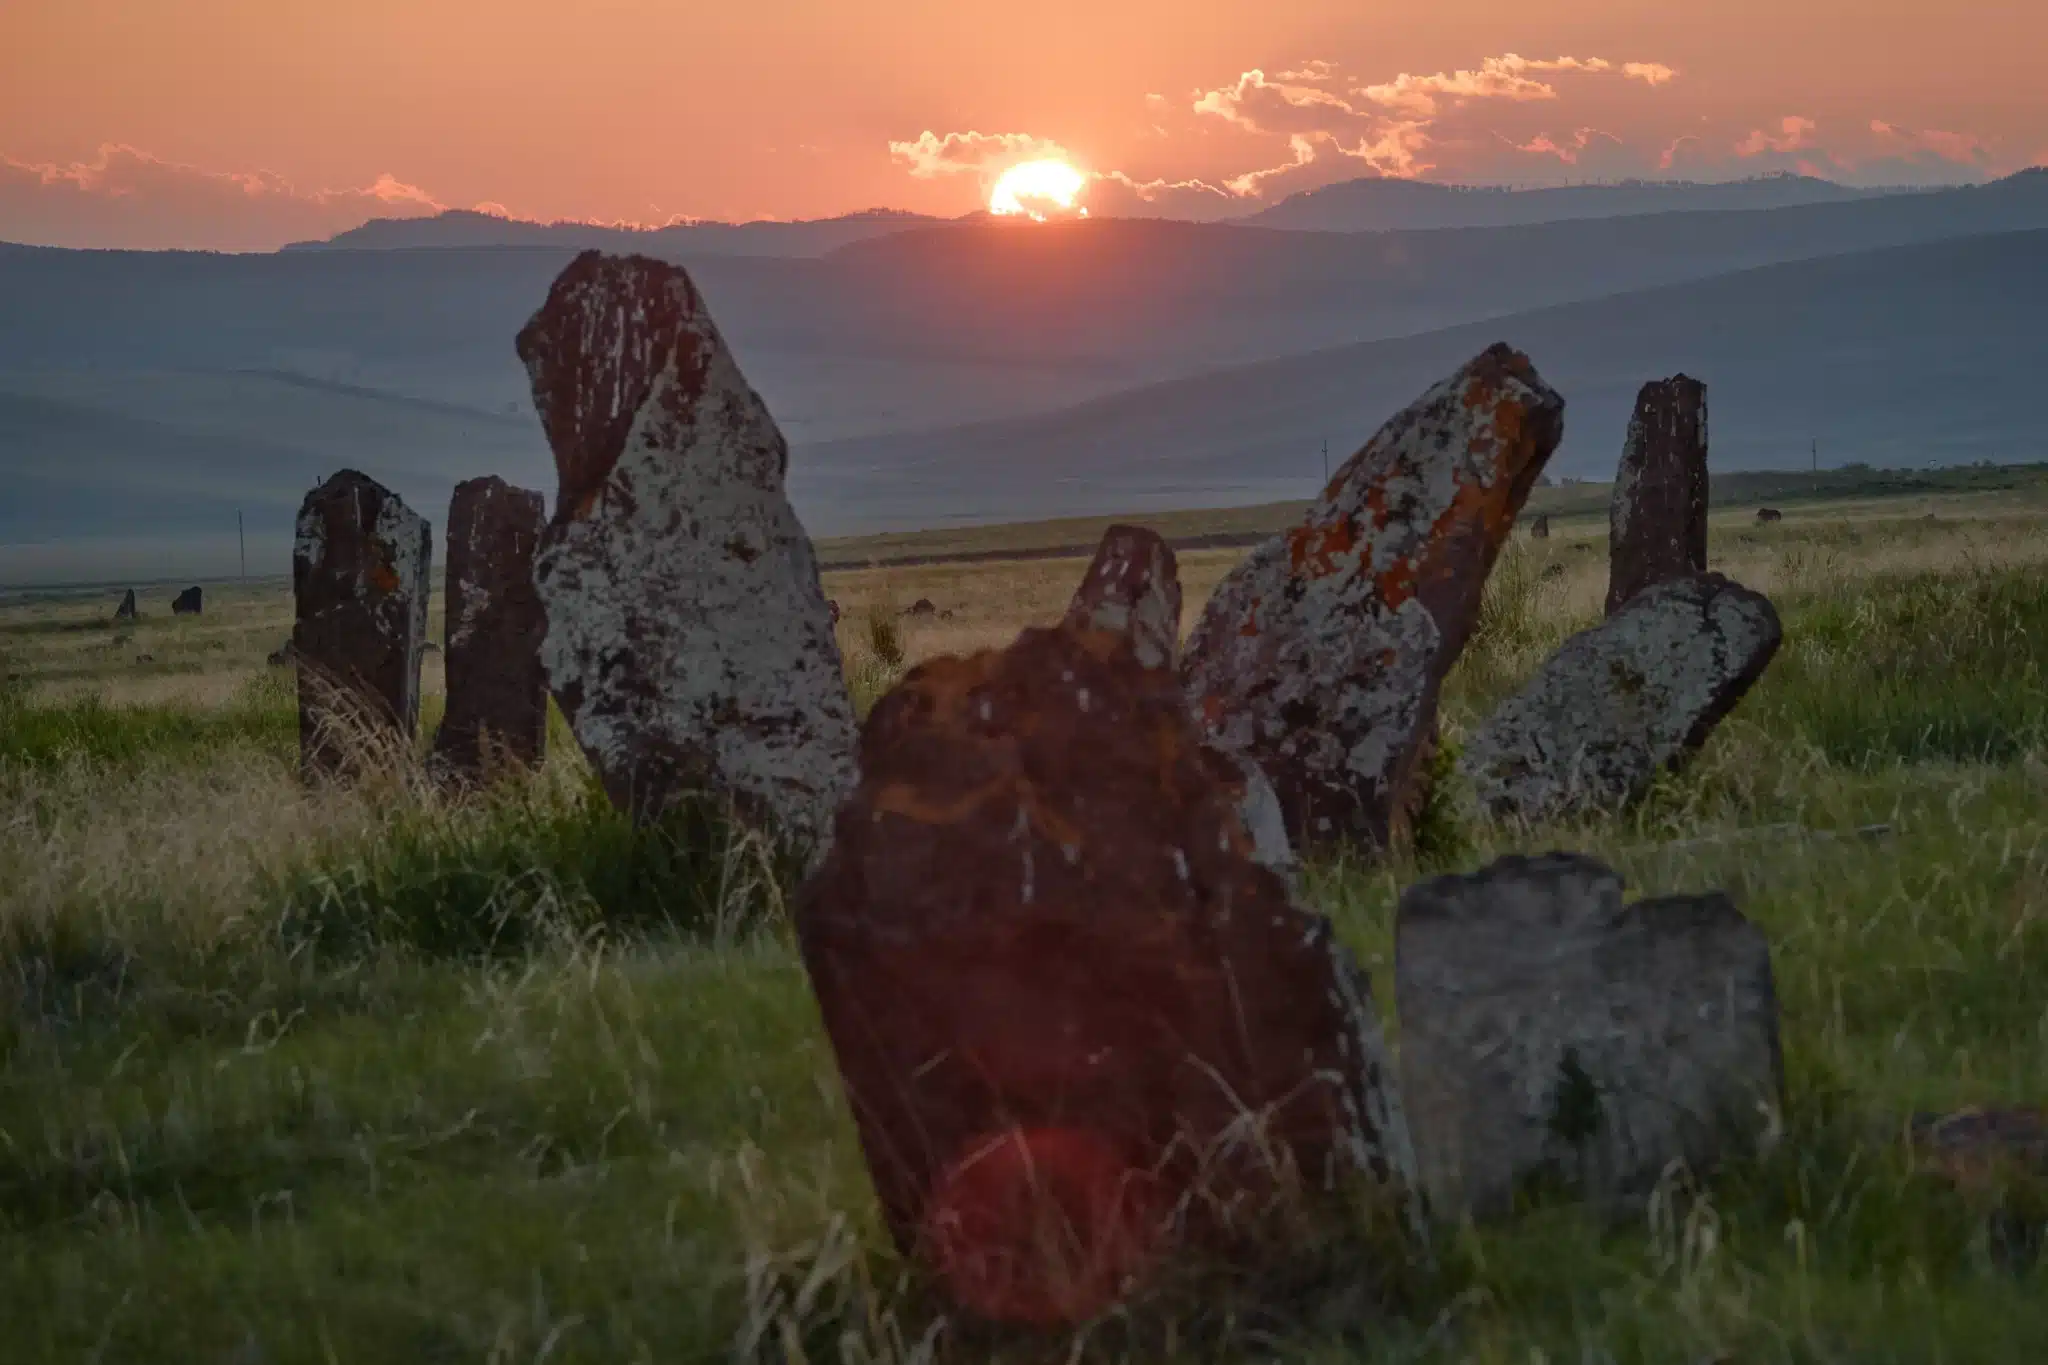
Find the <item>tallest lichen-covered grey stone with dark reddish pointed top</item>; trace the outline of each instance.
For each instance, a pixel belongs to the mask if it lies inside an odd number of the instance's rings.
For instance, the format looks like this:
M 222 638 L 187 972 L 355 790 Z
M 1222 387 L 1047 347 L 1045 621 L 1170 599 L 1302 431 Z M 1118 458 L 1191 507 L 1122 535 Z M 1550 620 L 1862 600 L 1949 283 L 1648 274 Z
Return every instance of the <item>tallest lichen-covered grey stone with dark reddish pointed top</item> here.
M 854 780 L 854 706 L 788 446 L 690 276 L 584 252 L 518 334 L 561 489 L 541 663 L 612 800 L 688 792 L 795 843 Z

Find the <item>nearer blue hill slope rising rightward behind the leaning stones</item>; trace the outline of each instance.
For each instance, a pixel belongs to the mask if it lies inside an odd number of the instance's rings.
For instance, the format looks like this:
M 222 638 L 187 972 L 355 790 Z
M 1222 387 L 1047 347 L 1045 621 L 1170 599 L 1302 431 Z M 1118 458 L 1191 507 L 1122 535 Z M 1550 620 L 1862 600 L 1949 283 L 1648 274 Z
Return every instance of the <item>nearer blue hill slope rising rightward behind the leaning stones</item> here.
M 1636 387 L 1706 379 L 1716 469 L 2042 460 L 2048 231 L 1808 260 L 1212 370 L 1053 415 L 825 442 L 793 465 L 836 532 L 1305 497 L 1495 340 L 1567 397 L 1552 473 L 1608 479 Z

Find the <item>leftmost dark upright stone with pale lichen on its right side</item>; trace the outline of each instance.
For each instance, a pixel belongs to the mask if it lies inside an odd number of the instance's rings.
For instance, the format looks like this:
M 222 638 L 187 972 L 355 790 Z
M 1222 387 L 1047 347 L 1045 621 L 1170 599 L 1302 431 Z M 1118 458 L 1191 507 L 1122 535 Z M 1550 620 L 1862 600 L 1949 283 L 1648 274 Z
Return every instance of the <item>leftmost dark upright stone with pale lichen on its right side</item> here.
M 344 776 L 420 722 L 432 534 L 397 493 L 344 469 L 305 495 L 291 551 L 299 769 Z

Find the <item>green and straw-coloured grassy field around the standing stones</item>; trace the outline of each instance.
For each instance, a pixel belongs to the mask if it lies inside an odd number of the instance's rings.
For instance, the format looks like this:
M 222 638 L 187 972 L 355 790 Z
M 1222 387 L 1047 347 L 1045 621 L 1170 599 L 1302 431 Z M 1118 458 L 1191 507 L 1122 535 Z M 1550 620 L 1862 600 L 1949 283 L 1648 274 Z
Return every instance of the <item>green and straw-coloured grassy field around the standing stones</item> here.
M 1774 487 L 1774 526 L 1722 489 L 1714 567 L 1776 598 L 1786 647 L 1690 769 L 1571 829 L 1487 827 L 1448 792 L 1419 847 L 1309 876 L 1382 1009 L 1421 874 L 1573 847 L 1636 892 L 1731 890 L 1784 1007 L 1763 1156 L 1642 1222 L 1542 1205 L 1440 1230 L 1434 1269 L 1358 1263 L 1231 1320 L 1139 1306 L 1006 1355 L 2048 1359 L 2040 1191 L 1954 1191 L 1903 1142 L 1915 1111 L 2048 1103 L 2048 481 L 1985 479 Z M 1542 497 L 1554 534 L 1489 585 L 1452 741 L 1597 616 L 1606 489 Z M 827 546 L 903 553 L 940 551 Z M 1184 555 L 1190 620 L 1237 553 Z M 1057 616 L 1079 569 L 827 575 L 862 704 L 903 661 Z M 995 1351 L 934 1322 L 879 1232 L 758 845 L 629 829 L 559 726 L 485 798 L 403 761 L 305 792 L 291 675 L 264 665 L 289 587 L 209 587 L 201 618 L 168 596 L 121 632 L 119 591 L 0 604 L 0 1359 Z

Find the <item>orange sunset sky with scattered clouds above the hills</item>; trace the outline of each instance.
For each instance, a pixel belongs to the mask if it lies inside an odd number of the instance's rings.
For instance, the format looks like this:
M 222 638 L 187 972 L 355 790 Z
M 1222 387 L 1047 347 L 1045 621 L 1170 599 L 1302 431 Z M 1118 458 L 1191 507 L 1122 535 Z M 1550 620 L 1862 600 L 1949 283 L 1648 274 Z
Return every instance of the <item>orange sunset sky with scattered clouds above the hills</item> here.
M 1374 170 L 1982 178 L 2048 160 L 2044 57 L 2038 0 L 6 0 L 0 239 L 963 213 L 1049 147 L 1188 217 Z

